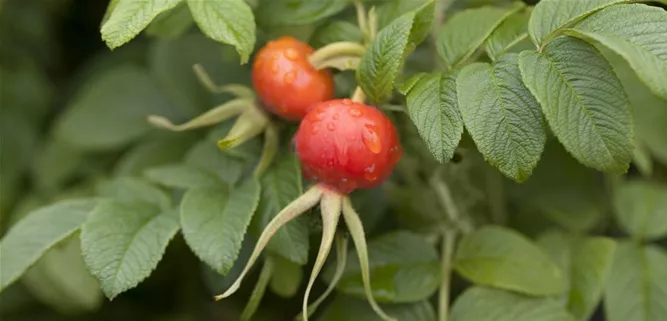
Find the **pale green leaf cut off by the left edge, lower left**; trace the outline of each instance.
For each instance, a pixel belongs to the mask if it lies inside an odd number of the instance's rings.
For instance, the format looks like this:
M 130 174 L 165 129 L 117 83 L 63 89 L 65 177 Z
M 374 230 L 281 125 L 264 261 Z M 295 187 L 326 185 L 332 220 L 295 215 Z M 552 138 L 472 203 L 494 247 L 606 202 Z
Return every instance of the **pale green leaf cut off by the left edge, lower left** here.
M 69 200 L 30 212 L 0 241 L 0 291 L 18 279 L 51 247 L 74 234 L 96 200 Z

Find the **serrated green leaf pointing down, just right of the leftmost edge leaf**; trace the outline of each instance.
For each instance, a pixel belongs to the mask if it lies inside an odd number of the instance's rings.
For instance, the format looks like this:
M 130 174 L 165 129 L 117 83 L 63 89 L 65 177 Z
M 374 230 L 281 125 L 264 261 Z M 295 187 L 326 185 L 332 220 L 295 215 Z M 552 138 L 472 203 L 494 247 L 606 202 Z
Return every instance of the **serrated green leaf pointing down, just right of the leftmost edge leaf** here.
M 103 202 L 81 228 L 81 249 L 102 291 L 113 299 L 151 274 L 178 229 L 175 210 Z

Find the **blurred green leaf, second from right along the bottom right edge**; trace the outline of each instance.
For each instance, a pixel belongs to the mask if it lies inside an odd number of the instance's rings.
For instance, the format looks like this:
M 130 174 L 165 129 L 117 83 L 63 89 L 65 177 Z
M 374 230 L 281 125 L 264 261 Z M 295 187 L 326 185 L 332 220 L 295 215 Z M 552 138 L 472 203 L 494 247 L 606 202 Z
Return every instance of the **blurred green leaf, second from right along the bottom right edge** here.
M 590 320 L 609 279 L 616 243 L 556 231 L 542 234 L 537 242 L 567 275 L 568 290 L 560 299 L 578 320 Z

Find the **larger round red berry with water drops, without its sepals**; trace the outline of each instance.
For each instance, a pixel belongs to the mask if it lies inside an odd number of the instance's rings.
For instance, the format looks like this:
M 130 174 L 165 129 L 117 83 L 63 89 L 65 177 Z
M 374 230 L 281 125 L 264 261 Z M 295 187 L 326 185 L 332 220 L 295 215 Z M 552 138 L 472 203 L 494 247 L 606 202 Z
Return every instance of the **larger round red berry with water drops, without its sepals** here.
M 391 120 L 349 99 L 315 105 L 301 121 L 295 144 L 306 179 L 343 194 L 379 185 L 403 154 Z

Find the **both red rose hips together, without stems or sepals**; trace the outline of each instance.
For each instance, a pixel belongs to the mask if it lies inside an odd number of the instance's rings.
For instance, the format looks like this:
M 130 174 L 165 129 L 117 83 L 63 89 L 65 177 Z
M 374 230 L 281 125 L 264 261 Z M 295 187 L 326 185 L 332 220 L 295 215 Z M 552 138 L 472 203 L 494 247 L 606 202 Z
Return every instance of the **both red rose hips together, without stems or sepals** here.
M 331 73 L 311 66 L 312 53 L 291 37 L 269 42 L 253 64 L 255 91 L 271 112 L 301 121 L 295 145 L 306 179 L 343 194 L 377 186 L 402 154 L 396 128 L 371 106 L 332 99 Z

